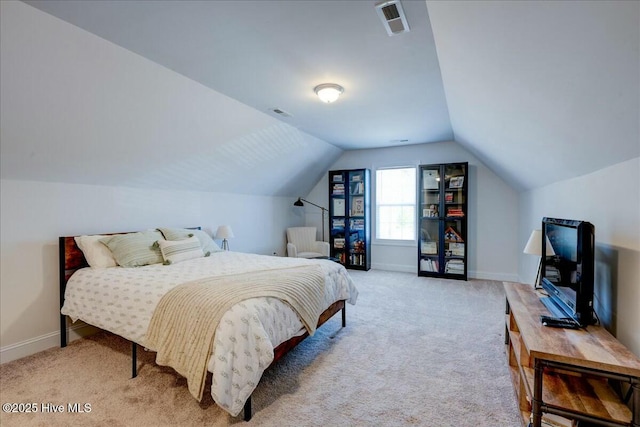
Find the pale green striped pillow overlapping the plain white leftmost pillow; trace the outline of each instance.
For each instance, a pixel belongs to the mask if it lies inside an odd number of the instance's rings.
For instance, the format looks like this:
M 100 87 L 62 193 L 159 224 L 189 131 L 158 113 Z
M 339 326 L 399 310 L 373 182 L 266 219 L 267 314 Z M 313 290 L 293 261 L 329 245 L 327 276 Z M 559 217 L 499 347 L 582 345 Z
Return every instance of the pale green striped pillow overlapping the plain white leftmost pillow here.
M 160 248 L 155 243 L 162 239 L 159 231 L 116 234 L 100 241 L 106 245 L 122 267 L 140 267 L 162 262 Z

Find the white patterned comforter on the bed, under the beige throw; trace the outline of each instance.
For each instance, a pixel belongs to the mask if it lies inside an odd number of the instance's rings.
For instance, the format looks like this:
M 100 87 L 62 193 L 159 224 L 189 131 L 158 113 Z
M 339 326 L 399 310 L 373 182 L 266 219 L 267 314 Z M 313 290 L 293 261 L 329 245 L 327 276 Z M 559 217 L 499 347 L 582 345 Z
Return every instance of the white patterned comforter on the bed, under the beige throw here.
M 210 276 L 309 263 L 320 264 L 325 272 L 325 309 L 343 299 L 355 304 L 358 291 L 340 264 L 217 252 L 173 265 L 81 269 L 67 283 L 62 314 L 144 346 L 153 310 L 171 288 Z M 214 401 L 231 415 L 238 415 L 273 361 L 273 349 L 303 332 L 296 313 L 278 299 L 253 298 L 234 306 L 222 317 L 209 360 Z

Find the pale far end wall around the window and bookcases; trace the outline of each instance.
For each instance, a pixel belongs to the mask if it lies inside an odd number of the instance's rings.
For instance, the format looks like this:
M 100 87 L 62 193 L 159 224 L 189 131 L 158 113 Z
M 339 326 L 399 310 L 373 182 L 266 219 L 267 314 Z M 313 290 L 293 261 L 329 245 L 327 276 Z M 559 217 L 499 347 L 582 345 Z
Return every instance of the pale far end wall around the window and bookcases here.
M 375 169 L 380 167 L 454 162 L 469 162 L 469 277 L 517 280 L 517 252 L 522 250 L 514 232 L 518 224 L 518 195 L 459 144 L 440 142 L 347 151 L 331 166 L 331 170 L 369 168 L 372 181 L 375 181 Z M 306 198 L 322 206 L 327 205 L 327 174 Z M 372 199 L 372 215 L 375 221 L 375 194 L 372 194 Z M 308 225 L 320 229 L 318 210 L 307 208 L 306 221 Z M 375 222 L 372 223 L 372 233 L 374 229 Z M 415 243 L 397 245 L 374 240 L 371 263 L 372 268 L 376 269 L 417 273 L 417 246 Z

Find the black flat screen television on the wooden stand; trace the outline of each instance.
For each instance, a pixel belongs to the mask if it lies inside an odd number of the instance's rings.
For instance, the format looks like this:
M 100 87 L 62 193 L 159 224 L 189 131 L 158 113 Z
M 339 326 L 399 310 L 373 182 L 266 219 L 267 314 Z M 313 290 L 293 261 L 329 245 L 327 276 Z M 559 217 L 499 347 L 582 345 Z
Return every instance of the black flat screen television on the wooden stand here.
M 555 317 L 571 318 L 581 326 L 594 323 L 594 234 L 593 224 L 586 221 L 542 219 L 541 285 L 549 295 L 542 302 Z M 545 240 L 553 253 L 547 253 Z

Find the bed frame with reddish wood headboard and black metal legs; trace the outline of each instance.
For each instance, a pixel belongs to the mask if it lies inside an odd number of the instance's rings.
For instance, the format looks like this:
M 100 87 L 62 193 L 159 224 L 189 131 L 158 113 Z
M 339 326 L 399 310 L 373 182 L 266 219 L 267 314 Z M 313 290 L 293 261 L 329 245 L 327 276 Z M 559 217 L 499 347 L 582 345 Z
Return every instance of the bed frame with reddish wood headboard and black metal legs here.
M 197 227 L 200 228 L 200 227 Z M 108 234 L 121 234 L 121 233 L 108 233 Z M 87 260 L 80 248 L 76 245 L 75 236 L 64 236 L 58 238 L 59 242 L 59 259 L 60 259 L 60 309 L 64 305 L 64 293 L 67 288 L 67 281 L 73 273 L 77 270 L 88 267 Z M 342 312 L 342 327 L 347 326 L 347 314 L 345 300 L 339 300 L 334 302 L 327 308 L 318 319 L 318 328 L 322 326 L 327 320 L 332 318 L 339 311 Z M 300 342 L 309 336 L 308 332 L 302 335 L 295 336 L 279 346 L 274 350 L 273 361 L 269 367 L 273 366 L 278 360 L 280 360 L 290 350 L 295 348 Z M 67 316 L 60 313 L 60 347 L 67 346 Z M 131 378 L 135 378 L 138 375 L 138 344 L 131 341 Z M 268 368 L 267 368 L 268 369 Z M 251 419 L 251 396 L 244 404 L 244 420 L 249 421 Z

